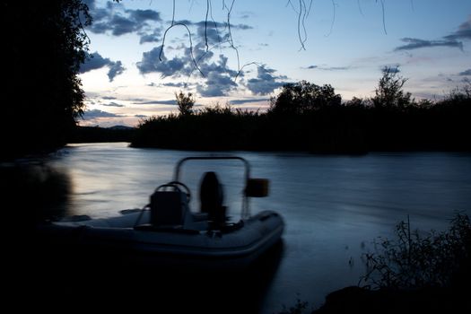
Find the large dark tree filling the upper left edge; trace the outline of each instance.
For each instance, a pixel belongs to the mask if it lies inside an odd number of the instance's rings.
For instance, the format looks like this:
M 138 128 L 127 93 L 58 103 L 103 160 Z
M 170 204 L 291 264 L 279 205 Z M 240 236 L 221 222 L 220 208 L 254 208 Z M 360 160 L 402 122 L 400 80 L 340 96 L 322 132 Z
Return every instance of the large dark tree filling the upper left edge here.
M 0 132 L 8 158 L 65 144 L 83 113 L 79 79 L 92 22 L 80 0 L 1 4 L 4 106 Z M 7 30 L 7 31 L 6 31 Z

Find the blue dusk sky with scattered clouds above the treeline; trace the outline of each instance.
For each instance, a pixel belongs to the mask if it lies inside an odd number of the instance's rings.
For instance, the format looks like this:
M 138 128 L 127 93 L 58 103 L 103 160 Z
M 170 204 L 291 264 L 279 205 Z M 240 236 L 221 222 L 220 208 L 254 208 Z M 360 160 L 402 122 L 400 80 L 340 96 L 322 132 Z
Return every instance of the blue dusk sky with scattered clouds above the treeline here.
M 470 0 L 83 2 L 93 22 L 82 126 L 177 113 L 180 91 L 193 93 L 195 109 L 264 110 L 301 80 L 368 98 L 385 66 L 416 100 L 471 80 Z

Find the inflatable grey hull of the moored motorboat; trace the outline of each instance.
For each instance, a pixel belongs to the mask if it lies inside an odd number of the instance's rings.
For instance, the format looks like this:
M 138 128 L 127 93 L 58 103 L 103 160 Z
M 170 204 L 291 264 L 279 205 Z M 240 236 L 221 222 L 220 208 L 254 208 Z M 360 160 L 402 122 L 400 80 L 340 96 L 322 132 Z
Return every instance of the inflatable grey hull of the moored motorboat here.
M 84 222 L 52 222 L 39 227 L 48 244 L 94 257 L 185 269 L 243 269 L 273 247 L 283 234 L 279 214 L 264 211 L 226 231 L 135 230 L 139 213 Z

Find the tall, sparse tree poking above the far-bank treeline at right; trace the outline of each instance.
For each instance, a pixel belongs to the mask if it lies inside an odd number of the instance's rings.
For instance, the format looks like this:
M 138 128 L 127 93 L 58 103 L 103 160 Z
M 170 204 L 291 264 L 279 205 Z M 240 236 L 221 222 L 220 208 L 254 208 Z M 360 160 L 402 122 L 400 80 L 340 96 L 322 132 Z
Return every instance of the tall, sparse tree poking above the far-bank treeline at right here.
M 411 104 L 411 93 L 405 93 L 402 89 L 407 79 L 399 75 L 399 67 L 385 66 L 382 73 L 372 98 L 374 107 L 404 109 Z

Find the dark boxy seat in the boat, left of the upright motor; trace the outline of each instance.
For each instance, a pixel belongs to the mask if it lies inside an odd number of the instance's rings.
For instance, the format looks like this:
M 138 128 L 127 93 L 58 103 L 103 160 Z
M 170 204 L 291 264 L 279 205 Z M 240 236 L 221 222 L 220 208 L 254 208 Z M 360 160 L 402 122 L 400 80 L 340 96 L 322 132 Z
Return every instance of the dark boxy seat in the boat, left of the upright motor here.
M 153 226 L 184 225 L 188 215 L 187 195 L 181 191 L 156 191 L 151 196 Z

